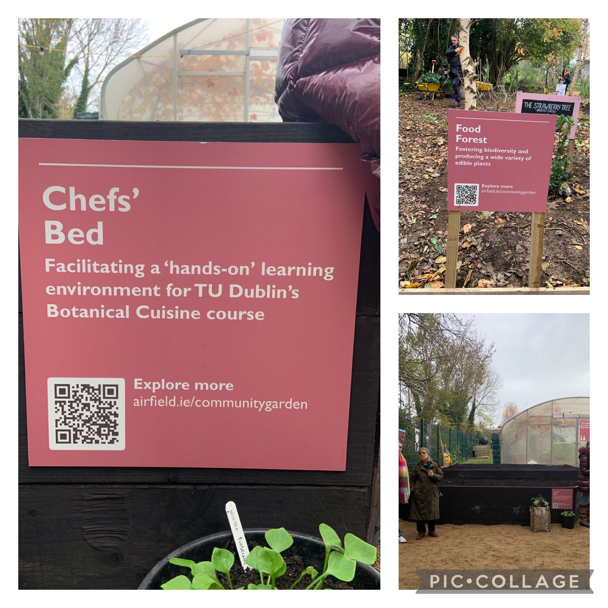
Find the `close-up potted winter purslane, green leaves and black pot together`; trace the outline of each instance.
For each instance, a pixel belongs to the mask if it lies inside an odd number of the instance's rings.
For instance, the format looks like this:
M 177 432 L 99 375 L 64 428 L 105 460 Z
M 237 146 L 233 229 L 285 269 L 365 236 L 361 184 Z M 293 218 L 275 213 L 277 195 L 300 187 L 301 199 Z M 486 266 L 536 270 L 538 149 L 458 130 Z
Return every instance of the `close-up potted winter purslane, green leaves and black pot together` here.
M 354 534 L 344 543 L 322 523 L 322 540 L 285 528 L 245 530 L 247 570 L 235 559 L 232 533 L 190 542 L 163 558 L 139 589 L 380 589 L 371 567 L 376 548 Z

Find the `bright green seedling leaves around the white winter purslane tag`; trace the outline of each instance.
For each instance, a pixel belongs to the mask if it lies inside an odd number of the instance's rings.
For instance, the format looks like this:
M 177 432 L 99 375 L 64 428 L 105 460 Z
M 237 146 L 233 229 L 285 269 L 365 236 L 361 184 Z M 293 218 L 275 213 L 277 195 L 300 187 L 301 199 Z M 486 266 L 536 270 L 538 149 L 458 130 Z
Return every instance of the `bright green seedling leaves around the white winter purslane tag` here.
M 325 544 L 325 562 L 322 573 L 312 567 L 306 567 L 300 573 L 297 580 L 290 589 L 302 581 L 305 576 L 310 576 L 311 583 L 306 589 L 322 589 L 323 582 L 328 576 L 333 576 L 340 581 L 350 582 L 354 578 L 357 562 L 362 564 L 374 564 L 376 561 L 376 547 L 362 541 L 354 534 L 346 534 L 344 544 L 340 537 L 330 526 L 322 523 L 319 532 Z M 247 589 L 251 590 L 274 590 L 277 589 L 276 581 L 286 572 L 287 566 L 281 556 L 294 542 L 291 534 L 285 528 L 273 528 L 264 534 L 268 547 L 254 547 L 245 563 L 257 570 L 260 574 L 258 584 L 250 583 Z M 192 559 L 171 558 L 171 564 L 190 568 L 192 581 L 187 576 L 179 575 L 161 585 L 162 589 L 224 589 L 216 575 L 221 572 L 226 575 L 230 589 L 230 569 L 234 564 L 234 556 L 230 551 L 215 547 L 210 562 L 194 562 Z M 239 587 L 237 590 L 244 589 Z

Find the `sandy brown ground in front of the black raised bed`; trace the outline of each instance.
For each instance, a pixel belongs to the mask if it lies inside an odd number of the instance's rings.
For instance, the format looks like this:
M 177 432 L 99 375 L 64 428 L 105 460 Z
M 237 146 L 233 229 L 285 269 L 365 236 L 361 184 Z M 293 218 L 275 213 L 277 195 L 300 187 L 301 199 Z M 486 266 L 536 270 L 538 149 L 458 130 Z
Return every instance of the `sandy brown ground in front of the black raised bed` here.
M 589 530 L 551 524 L 550 532 L 533 532 L 519 525 L 437 526 L 437 538 L 416 541 L 416 523 L 399 519 L 407 543 L 399 545 L 399 589 L 418 589 L 416 568 L 587 570 Z M 421 564 L 424 564 L 422 566 Z

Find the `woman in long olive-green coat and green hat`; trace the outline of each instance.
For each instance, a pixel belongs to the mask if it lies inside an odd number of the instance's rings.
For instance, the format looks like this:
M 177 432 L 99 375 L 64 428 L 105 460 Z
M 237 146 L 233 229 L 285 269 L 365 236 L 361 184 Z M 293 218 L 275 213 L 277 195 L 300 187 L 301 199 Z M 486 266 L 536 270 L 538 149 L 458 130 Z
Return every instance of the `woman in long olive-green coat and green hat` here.
M 430 459 L 429 452 L 421 447 L 418 450 L 420 460 L 410 471 L 410 519 L 415 520 L 420 541 L 426 534 L 425 523 L 429 525 L 429 536 L 439 536 L 435 532 L 435 522 L 439 519 L 439 488 L 437 484 L 443 479 L 443 471 Z

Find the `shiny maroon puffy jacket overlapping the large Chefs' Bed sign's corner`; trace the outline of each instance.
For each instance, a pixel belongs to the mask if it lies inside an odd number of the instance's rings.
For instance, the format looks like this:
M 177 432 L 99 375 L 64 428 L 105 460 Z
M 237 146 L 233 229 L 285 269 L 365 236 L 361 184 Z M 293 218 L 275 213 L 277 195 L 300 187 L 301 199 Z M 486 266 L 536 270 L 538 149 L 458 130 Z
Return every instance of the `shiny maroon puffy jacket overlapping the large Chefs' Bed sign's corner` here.
M 275 101 L 286 122 L 328 122 L 361 144 L 380 228 L 380 20 L 285 19 Z

